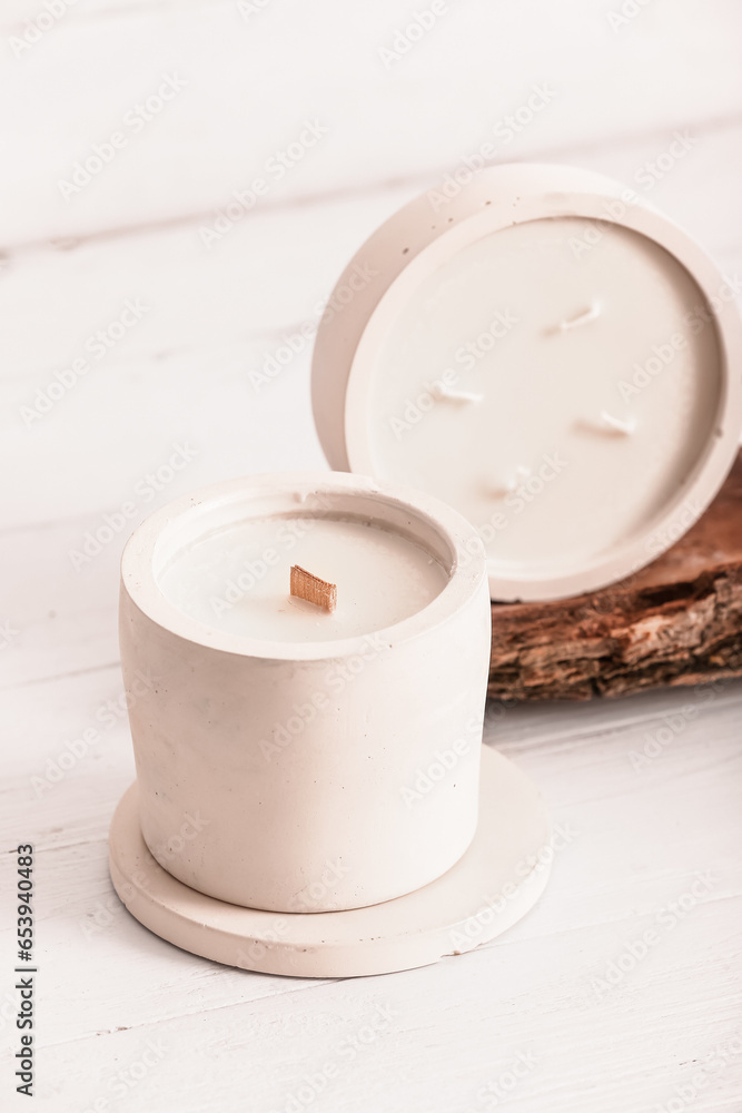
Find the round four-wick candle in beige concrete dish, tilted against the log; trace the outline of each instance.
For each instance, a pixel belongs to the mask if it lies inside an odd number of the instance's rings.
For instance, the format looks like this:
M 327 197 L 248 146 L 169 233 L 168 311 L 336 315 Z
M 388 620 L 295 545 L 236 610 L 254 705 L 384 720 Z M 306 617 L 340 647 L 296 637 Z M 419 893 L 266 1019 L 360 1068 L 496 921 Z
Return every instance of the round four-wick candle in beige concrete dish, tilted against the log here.
M 413 201 L 358 259 L 377 279 L 317 336 L 325 452 L 465 514 L 493 598 L 627 574 L 723 482 L 742 425 L 731 287 L 631 191 L 498 167 L 443 210 Z

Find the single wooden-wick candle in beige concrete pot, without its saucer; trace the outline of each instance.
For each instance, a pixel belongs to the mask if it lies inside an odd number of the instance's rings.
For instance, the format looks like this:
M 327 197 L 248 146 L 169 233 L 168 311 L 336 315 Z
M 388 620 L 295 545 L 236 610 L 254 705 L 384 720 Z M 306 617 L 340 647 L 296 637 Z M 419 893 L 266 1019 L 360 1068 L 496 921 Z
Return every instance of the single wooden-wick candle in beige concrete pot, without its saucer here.
M 335 611 L 291 595 L 297 564 Z M 178 500 L 127 544 L 120 639 L 141 835 L 170 883 L 360 908 L 471 845 L 489 601 L 482 543 L 448 506 L 347 474 Z

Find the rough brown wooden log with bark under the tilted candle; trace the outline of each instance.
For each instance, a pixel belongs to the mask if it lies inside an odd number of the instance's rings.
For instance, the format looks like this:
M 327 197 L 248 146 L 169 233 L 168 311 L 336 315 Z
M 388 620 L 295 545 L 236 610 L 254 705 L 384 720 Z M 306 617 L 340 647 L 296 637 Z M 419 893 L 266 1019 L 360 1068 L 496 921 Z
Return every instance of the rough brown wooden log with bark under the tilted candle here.
M 489 695 L 592 699 L 742 676 L 742 452 L 666 553 L 601 591 L 493 603 Z

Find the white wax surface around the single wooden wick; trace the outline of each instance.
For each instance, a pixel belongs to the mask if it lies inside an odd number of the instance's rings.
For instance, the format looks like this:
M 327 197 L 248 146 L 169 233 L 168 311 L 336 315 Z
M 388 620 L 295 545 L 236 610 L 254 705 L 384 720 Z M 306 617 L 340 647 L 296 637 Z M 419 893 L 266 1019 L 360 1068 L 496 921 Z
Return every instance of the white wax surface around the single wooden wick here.
M 289 595 L 291 564 L 337 584 L 334 613 Z M 158 574 L 162 593 L 211 629 L 267 641 L 328 641 L 394 626 L 447 572 L 400 534 L 324 518 L 248 520 L 197 540 Z

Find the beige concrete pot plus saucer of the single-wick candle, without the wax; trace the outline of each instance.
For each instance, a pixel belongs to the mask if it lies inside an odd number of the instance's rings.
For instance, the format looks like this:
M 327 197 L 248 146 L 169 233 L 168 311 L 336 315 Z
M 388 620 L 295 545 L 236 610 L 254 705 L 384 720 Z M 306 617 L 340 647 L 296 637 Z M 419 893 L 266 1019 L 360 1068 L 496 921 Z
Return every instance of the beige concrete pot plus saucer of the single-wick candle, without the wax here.
M 297 506 L 403 534 L 445 587 L 373 637 L 324 642 L 215 629 L 160 590 L 162 569 L 204 535 Z M 545 884 L 548 825 L 504 758 L 485 750 L 479 777 L 489 630 L 482 543 L 426 495 L 288 474 L 152 514 L 121 574 L 125 683 L 155 680 L 130 701 L 137 784 L 111 827 L 129 910 L 196 954 L 313 976 L 422 965 L 503 930 Z M 319 700 L 330 668 L 348 682 Z M 300 731 L 277 729 L 303 707 L 316 713 Z

